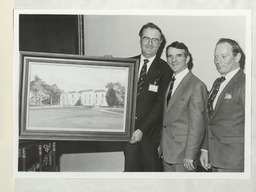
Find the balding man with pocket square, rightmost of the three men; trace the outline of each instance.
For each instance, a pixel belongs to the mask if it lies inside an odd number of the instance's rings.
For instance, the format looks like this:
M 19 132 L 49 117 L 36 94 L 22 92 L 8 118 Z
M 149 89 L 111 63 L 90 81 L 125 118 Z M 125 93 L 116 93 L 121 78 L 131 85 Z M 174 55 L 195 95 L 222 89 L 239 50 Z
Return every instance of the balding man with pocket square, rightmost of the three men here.
M 220 76 L 207 101 L 207 134 L 200 161 L 213 172 L 244 171 L 245 56 L 232 39 L 220 39 L 214 63 Z

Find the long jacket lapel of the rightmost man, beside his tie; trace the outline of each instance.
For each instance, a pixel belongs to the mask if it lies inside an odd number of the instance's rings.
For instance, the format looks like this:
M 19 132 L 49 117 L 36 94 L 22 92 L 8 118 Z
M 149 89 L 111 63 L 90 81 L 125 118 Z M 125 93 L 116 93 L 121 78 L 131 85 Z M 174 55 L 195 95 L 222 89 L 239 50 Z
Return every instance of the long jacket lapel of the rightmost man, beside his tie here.
M 228 82 L 228 84 L 226 85 L 226 87 L 222 90 L 221 94 L 219 95 L 219 98 L 217 100 L 216 106 L 214 108 L 213 114 L 211 115 L 211 118 L 214 117 L 214 115 L 216 114 L 216 112 L 219 110 L 222 102 L 224 101 L 225 98 L 225 94 L 229 93 L 233 87 L 235 86 L 238 78 L 240 77 L 240 75 L 243 73 L 243 71 L 240 69 L 235 76 Z

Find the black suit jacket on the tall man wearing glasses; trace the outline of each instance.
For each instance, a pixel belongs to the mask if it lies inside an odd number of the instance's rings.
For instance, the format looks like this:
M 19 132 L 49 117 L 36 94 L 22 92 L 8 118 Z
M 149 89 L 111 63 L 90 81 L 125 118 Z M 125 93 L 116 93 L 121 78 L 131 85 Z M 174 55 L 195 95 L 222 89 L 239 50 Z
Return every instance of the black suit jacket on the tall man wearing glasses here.
M 135 57 L 140 59 L 140 56 Z M 152 62 L 141 94 L 137 96 L 135 130 L 143 132 L 141 143 L 159 143 L 163 118 L 163 99 L 172 77 L 170 66 L 157 57 Z M 150 91 L 150 85 L 157 85 L 158 91 Z

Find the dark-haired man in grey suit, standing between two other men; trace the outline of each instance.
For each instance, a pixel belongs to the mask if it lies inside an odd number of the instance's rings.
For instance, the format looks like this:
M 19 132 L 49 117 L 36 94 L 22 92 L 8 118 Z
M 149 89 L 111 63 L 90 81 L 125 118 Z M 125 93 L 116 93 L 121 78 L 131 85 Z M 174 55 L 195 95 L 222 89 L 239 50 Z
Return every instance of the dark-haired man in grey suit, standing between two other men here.
M 188 69 L 192 57 L 185 44 L 176 41 L 167 46 L 166 57 L 174 75 L 164 102 L 160 145 L 164 171 L 195 171 L 205 134 L 207 88 Z

